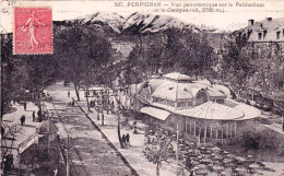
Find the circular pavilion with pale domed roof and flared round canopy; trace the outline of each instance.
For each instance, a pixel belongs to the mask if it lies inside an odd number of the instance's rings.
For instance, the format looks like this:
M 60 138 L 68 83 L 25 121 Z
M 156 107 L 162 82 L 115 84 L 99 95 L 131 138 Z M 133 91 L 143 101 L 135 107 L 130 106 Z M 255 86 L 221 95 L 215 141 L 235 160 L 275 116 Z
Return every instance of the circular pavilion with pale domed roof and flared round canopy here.
M 246 131 L 246 124 L 260 110 L 227 98 L 209 81 L 168 73 L 139 84 L 135 98 L 140 112 L 155 118 L 157 125 L 201 143 L 234 142 Z

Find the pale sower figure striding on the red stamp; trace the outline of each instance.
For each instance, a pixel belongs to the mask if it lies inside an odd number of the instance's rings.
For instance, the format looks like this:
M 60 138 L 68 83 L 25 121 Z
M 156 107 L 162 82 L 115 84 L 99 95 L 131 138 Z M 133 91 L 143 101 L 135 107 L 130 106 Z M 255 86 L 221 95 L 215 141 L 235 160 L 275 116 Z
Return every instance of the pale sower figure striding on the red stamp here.
M 37 23 L 37 24 L 36 24 Z M 38 46 L 38 40 L 35 37 L 35 30 L 37 25 L 45 25 L 35 17 L 35 11 L 32 12 L 31 17 L 26 21 L 25 25 L 22 27 L 22 32 L 26 32 L 26 26 L 28 26 L 27 35 L 29 37 L 31 49 L 34 49 L 34 43 Z

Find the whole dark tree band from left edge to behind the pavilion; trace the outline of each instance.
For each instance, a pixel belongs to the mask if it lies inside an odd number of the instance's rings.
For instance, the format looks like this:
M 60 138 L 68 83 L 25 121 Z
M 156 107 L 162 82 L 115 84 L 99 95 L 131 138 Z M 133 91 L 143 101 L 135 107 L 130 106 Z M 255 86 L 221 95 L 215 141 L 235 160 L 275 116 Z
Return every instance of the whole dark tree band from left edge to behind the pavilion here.
M 157 68 L 190 75 L 212 72 L 212 48 L 204 33 L 175 28 L 155 34 L 109 33 L 91 25 L 81 26 L 75 21 L 55 22 L 54 54 L 27 56 L 13 55 L 12 34 L 1 35 L 4 38 L 1 40 L 2 105 L 7 106 L 25 91 L 39 99 L 40 93 L 58 80 L 72 82 L 80 101 L 80 87 L 87 90 L 94 83 L 110 84 L 121 70 L 128 84 L 142 81 Z M 137 43 L 122 67 L 121 63 L 113 64 L 116 51 L 111 48 L 110 37 Z

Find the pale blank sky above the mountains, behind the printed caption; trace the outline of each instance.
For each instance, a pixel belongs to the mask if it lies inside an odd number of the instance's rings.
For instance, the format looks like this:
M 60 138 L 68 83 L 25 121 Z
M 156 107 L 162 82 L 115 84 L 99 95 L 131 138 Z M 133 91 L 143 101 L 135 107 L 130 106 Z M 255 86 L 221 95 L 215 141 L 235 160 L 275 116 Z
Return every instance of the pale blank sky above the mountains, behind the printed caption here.
M 208 12 L 208 13 L 196 13 L 196 12 L 154 12 L 155 9 L 159 8 L 149 8 L 149 7 L 128 7 L 128 2 L 145 2 L 143 1 L 123 1 L 125 7 L 115 7 L 115 2 L 122 1 L 19 1 L 13 4 L 2 1 L 0 11 L 0 27 L 4 28 L 5 32 L 12 32 L 13 24 L 13 7 L 50 7 L 52 9 L 52 19 L 55 21 L 60 20 L 71 20 L 79 16 L 84 16 L 87 14 L 96 12 L 106 13 L 119 13 L 121 15 L 128 15 L 133 12 L 142 13 L 153 13 L 153 14 L 164 14 L 175 16 L 185 23 L 214 26 L 216 28 L 226 30 L 232 23 L 247 25 L 248 20 L 253 19 L 256 21 L 264 20 L 265 17 L 284 17 L 284 1 L 283 0 L 258 0 L 253 1 L 257 3 L 264 4 L 264 8 L 244 8 L 236 7 L 237 1 L 225 1 L 225 0 L 191 0 L 191 1 L 163 1 L 162 3 L 167 3 L 168 8 L 170 2 L 181 2 L 181 5 L 187 2 L 232 2 L 233 8 L 225 8 L 224 13 L 220 12 Z M 152 1 L 149 1 L 152 2 Z M 156 1 L 157 2 L 157 1 Z M 161 2 L 161 1 L 159 1 Z M 238 2 L 250 2 L 247 0 Z M 252 3 L 252 1 L 251 1 Z M 166 8 L 166 9 L 168 9 Z

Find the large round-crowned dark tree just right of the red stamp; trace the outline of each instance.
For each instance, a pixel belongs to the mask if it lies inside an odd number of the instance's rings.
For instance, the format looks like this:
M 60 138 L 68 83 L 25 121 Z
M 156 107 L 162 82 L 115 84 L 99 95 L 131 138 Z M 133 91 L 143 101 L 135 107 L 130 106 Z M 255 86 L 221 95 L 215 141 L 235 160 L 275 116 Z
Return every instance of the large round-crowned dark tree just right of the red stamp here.
M 111 61 L 111 46 L 106 36 L 75 22 L 57 30 L 61 77 L 74 84 L 76 98 L 82 83 L 94 83 Z

